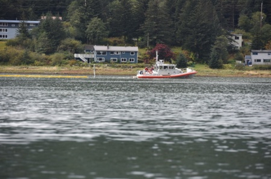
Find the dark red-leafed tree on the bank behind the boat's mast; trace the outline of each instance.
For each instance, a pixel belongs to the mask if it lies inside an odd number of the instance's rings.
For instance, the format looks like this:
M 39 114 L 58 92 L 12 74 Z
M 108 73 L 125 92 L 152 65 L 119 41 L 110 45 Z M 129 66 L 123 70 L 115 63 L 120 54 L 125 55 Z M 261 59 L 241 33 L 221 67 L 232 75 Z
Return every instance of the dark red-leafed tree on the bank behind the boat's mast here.
M 150 57 L 150 59 L 156 57 L 156 50 L 158 50 L 159 59 L 164 59 L 165 61 L 168 62 L 171 62 L 171 59 L 175 59 L 174 53 L 165 44 L 156 44 L 156 46 L 152 50 L 148 51 L 147 55 Z

